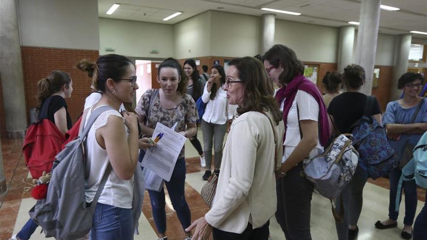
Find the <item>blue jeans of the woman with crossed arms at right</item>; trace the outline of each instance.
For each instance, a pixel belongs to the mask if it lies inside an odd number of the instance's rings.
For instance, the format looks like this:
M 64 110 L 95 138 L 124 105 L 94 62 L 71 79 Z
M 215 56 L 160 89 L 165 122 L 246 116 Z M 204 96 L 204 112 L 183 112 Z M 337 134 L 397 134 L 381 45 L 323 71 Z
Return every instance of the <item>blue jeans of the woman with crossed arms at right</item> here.
M 396 207 L 396 193 L 397 185 L 399 183 L 400 176 L 402 171 L 395 167 L 390 171 L 390 203 L 389 203 L 389 218 L 392 220 L 397 220 L 399 212 L 395 211 Z M 405 218 L 403 219 L 403 224 L 412 225 L 415 218 L 415 211 L 417 210 L 417 184 L 415 180 L 403 181 L 403 191 L 405 192 Z M 399 203 L 402 200 L 401 196 L 398 196 Z

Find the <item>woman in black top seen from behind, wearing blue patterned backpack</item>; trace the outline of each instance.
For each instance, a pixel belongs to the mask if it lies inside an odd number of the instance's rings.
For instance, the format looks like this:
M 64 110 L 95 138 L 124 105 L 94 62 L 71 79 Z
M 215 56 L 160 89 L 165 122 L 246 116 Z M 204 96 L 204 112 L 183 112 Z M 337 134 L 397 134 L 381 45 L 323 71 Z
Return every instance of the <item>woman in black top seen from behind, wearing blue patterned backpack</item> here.
M 343 73 L 343 83 L 346 92 L 332 99 L 328 112 L 340 133 L 351 133 L 351 126 L 361 119 L 365 112 L 367 96 L 360 92 L 365 83 L 363 67 L 356 64 L 346 66 Z M 369 112 L 378 123 L 381 122 L 381 111 L 377 99 L 375 99 L 373 108 Z M 362 194 L 366 180 L 366 172 L 358 165 L 350 183 L 345 186 L 336 199 L 336 209 L 340 209 L 341 202 L 343 203 L 341 209 L 344 209 L 343 222 L 335 223 L 339 240 L 353 240 L 359 232 L 357 222 L 362 210 Z

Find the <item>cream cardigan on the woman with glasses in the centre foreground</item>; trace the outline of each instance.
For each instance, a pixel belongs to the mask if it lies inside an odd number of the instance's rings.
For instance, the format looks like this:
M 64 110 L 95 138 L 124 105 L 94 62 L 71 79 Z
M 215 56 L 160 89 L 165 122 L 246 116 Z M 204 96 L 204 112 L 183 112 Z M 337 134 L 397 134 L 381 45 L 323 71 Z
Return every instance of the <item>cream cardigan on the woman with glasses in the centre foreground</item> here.
M 276 169 L 282 156 L 284 129 L 283 121 L 275 126 L 279 138 Z M 262 113 L 246 112 L 233 121 L 213 206 L 205 215 L 209 224 L 240 234 L 248 223 L 259 228 L 274 215 L 277 207 L 274 148 L 270 122 Z

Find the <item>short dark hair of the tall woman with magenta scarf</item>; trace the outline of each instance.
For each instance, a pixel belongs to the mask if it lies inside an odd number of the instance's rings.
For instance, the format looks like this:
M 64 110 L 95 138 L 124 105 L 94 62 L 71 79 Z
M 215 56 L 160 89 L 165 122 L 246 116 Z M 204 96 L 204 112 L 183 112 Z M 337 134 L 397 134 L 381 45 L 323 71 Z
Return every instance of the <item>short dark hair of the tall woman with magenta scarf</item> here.
M 282 64 L 283 72 L 279 76 L 282 84 L 291 82 L 298 74 L 304 74 L 304 64 L 298 60 L 294 50 L 281 44 L 276 44 L 264 54 L 267 60 L 275 68 Z

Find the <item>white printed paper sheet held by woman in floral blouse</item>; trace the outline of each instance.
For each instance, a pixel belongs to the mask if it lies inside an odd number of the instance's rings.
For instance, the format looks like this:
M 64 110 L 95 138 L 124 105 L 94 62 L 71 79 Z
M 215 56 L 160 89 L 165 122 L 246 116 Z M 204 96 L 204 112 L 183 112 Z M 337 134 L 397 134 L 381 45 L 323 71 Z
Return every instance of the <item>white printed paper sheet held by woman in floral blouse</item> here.
M 164 134 L 162 139 L 156 147 L 148 148 L 142 160 L 142 166 L 169 181 L 186 138 L 171 128 L 157 123 L 153 138 L 159 133 Z

